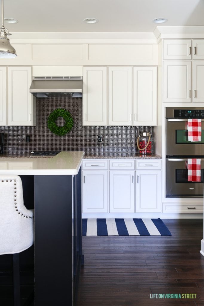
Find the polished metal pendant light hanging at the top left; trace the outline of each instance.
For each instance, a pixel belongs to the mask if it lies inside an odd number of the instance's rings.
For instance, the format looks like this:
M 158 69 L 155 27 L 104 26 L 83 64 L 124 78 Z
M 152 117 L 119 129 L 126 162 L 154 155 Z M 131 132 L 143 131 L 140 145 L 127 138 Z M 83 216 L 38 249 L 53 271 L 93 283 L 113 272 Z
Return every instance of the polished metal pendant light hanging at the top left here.
M 4 2 L 2 0 L 2 27 L 0 28 L 0 58 L 17 57 L 16 50 L 11 46 L 7 35 L 11 35 L 4 27 Z

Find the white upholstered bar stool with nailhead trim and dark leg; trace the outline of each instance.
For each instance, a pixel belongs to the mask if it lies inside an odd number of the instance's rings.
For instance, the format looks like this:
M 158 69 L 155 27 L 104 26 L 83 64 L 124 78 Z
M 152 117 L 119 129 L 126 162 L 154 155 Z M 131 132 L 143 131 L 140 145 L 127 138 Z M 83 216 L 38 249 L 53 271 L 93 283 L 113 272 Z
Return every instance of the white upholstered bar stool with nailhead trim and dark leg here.
M 34 213 L 24 206 L 18 175 L 0 175 L 0 255 L 13 254 L 13 300 L 20 306 L 19 253 L 34 241 Z

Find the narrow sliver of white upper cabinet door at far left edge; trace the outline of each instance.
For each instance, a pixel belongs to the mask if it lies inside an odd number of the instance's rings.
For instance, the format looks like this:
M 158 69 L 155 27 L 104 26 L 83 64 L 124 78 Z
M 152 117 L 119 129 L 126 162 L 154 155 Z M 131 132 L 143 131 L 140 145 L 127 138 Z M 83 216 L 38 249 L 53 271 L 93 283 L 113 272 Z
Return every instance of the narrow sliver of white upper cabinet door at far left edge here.
M 6 121 L 6 67 L 0 67 L 0 125 Z

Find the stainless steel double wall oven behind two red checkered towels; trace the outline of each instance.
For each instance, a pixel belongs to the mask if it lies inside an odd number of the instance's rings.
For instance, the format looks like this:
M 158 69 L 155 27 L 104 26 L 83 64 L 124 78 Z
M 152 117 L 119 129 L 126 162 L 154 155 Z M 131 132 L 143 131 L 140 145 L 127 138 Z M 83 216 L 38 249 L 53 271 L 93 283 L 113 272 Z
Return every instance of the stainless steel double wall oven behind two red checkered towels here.
M 201 142 L 188 141 L 186 121 L 202 122 Z M 188 158 L 201 159 L 201 181 L 189 182 Z M 204 168 L 204 108 L 166 108 L 166 197 L 202 197 Z

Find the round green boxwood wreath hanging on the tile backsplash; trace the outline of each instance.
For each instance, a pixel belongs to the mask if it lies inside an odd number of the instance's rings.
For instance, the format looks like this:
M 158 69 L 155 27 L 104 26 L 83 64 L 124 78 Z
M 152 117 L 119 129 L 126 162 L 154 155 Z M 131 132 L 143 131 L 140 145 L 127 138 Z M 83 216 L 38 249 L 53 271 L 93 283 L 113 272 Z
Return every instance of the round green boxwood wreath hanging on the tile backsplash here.
M 58 117 L 64 118 L 65 125 L 58 126 L 56 124 L 56 120 Z M 68 110 L 65 110 L 64 108 L 57 108 L 47 118 L 48 129 L 58 136 L 64 136 L 69 133 L 72 129 L 73 124 L 74 120 L 72 118 L 72 115 L 68 112 Z

